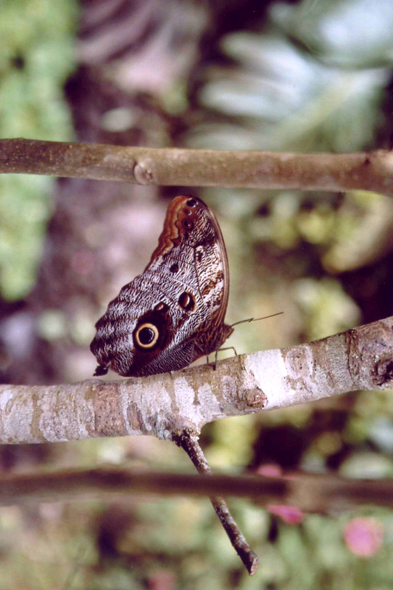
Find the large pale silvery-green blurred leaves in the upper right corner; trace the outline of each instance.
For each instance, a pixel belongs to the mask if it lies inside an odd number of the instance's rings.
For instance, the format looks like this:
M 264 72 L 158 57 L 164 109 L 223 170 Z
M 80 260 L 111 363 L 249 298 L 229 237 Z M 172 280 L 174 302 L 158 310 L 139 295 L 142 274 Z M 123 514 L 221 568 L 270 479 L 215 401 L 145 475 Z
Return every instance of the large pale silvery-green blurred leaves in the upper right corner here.
M 227 120 L 196 126 L 190 145 L 345 152 L 372 143 L 393 63 L 393 5 L 369 8 L 275 2 L 263 34 L 225 36 L 232 65 L 203 73 L 200 101 Z

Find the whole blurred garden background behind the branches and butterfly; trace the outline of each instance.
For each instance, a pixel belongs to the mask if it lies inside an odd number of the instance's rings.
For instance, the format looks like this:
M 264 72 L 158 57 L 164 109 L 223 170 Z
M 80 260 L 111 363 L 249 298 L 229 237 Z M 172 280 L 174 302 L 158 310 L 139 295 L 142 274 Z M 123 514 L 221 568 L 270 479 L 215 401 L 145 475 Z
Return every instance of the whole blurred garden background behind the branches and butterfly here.
M 0 136 L 346 152 L 393 141 L 391 0 L 0 0 Z M 393 201 L 354 191 L 195 190 L 227 245 L 240 353 L 393 313 Z M 179 187 L 0 178 L 0 382 L 90 378 L 94 324 L 142 272 Z M 109 376 L 115 378 L 114 374 Z M 391 391 L 227 419 L 212 468 L 393 474 Z M 2 446 L 2 472 L 103 464 L 193 472 L 150 437 Z M 0 587 L 392 587 L 393 512 L 306 515 L 230 500 L 249 578 L 206 500 L 0 509 Z

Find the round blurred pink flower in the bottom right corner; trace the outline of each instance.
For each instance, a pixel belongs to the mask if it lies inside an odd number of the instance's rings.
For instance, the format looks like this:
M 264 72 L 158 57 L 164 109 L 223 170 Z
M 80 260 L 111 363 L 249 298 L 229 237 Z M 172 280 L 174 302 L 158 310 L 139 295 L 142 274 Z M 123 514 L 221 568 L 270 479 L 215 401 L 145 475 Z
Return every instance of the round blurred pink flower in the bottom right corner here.
M 352 518 L 344 529 L 348 549 L 358 557 L 372 557 L 383 543 L 383 525 L 376 518 Z

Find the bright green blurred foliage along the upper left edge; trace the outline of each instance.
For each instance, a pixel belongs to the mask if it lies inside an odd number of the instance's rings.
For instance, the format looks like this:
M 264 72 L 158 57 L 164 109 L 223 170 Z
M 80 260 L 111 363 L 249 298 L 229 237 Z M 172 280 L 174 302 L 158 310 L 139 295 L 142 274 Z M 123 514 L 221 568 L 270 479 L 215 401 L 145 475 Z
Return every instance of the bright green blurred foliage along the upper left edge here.
M 72 123 L 63 85 L 75 67 L 76 0 L 2 0 L 0 136 L 67 141 Z M 0 293 L 34 286 L 51 213 L 50 178 L 0 178 Z

